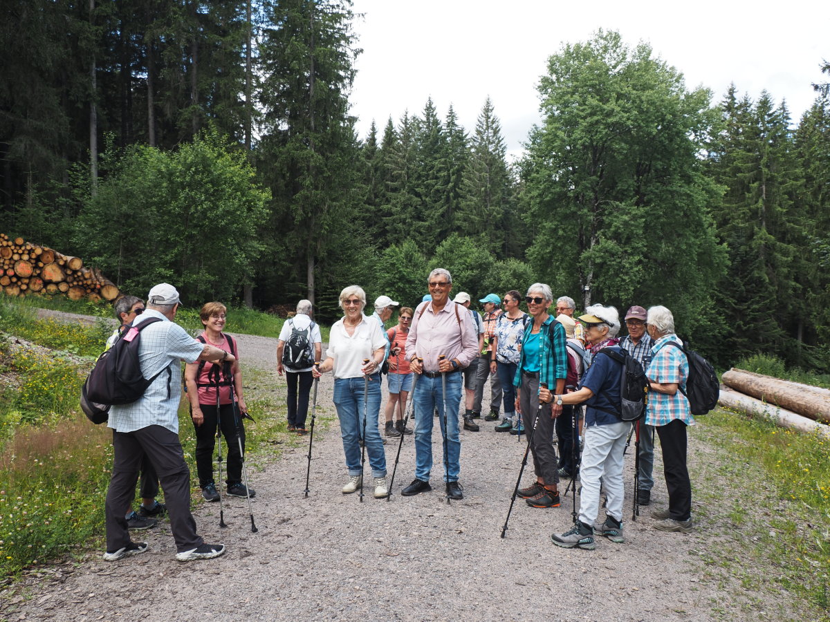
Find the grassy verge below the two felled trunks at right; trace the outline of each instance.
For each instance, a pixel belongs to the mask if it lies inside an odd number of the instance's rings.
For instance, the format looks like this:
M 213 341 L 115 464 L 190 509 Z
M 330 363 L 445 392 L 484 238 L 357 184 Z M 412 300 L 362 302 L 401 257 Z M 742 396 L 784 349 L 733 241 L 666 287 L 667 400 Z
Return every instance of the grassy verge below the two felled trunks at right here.
M 807 609 L 793 620 L 830 620 L 830 443 L 731 411 L 698 421 L 718 450 L 696 495 L 706 528 L 733 541 L 712 547 L 711 563 L 745 590 L 789 591 Z

